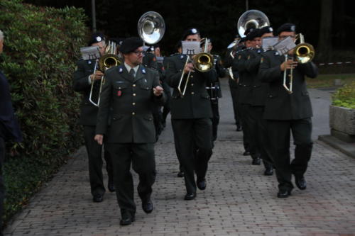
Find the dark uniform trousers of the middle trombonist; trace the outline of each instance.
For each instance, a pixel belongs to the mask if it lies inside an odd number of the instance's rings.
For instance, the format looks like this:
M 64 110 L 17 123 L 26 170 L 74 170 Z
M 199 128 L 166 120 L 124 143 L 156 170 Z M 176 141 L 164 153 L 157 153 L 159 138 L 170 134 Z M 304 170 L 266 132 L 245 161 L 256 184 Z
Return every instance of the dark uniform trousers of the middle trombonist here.
M 172 119 L 175 147 L 180 153 L 187 193 L 196 193 L 197 181 L 205 178 L 212 156 L 212 121 L 210 118 Z

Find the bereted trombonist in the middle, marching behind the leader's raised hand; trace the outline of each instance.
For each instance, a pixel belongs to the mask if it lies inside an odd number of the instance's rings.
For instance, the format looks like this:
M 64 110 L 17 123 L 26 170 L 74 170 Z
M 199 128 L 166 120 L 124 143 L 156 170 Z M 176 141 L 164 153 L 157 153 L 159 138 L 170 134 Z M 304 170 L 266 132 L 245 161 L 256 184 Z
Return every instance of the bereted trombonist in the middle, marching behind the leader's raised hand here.
M 196 28 L 189 29 L 182 36 L 182 40 L 200 42 L 200 33 Z M 187 55 L 170 57 L 165 75 L 166 82 L 174 89 L 171 117 L 175 146 L 184 169 L 187 191 L 185 200 L 192 200 L 196 197 L 197 187 L 200 190 L 206 189 L 205 177 L 212 155 L 212 108 L 206 86 L 216 81 L 217 72 L 214 68 L 208 72 L 199 72 L 194 69 L 192 63 L 187 63 L 184 67 L 186 59 Z M 189 72 L 190 79 L 185 95 L 182 96 L 178 91 L 178 84 L 182 74 L 182 84 L 185 84 Z

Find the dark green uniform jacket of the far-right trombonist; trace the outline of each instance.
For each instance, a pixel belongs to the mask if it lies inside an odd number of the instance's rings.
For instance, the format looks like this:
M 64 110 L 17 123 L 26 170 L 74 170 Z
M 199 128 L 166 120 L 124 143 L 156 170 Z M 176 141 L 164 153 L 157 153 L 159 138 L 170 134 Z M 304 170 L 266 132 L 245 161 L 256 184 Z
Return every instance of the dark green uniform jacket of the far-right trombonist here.
M 266 97 L 263 118 L 267 120 L 299 120 L 312 117 L 312 106 L 305 76 L 317 77 L 317 67 L 313 62 L 298 64 L 293 69 L 293 93 L 288 94 L 288 91 L 283 87 L 283 72 L 280 69 L 280 64 L 283 62 L 285 62 L 285 57 L 278 55 L 275 50 L 265 52 L 261 57 L 259 77 L 262 82 L 268 82 L 270 88 Z

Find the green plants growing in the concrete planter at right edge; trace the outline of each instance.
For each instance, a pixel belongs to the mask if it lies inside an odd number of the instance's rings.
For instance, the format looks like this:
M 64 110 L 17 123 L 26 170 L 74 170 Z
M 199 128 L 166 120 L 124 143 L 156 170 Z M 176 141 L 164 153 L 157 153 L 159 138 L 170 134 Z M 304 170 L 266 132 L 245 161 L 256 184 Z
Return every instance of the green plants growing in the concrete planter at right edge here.
M 334 106 L 355 109 L 355 81 L 342 86 L 332 96 Z

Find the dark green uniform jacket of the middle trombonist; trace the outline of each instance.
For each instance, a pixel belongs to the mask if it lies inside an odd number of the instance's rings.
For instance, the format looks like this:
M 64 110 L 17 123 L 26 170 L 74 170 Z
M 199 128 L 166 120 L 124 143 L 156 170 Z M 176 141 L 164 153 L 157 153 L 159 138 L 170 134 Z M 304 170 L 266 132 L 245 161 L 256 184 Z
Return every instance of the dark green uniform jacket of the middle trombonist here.
M 216 69 L 209 72 L 192 72 L 187 84 L 185 96 L 181 97 L 178 91 L 182 70 L 186 62 L 186 55 L 174 55 L 165 61 L 166 82 L 173 91 L 171 101 L 171 116 L 173 119 L 212 118 L 212 108 L 207 94 L 206 85 L 217 79 Z M 185 78 L 182 86 L 185 86 Z

